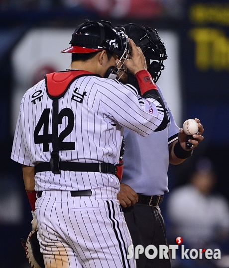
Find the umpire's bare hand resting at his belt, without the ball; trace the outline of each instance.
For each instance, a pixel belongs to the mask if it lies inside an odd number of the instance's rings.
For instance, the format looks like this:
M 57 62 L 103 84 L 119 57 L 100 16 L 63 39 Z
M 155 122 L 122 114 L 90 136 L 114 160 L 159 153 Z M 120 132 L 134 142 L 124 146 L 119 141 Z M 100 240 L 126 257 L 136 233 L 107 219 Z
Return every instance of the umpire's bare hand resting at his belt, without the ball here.
M 122 207 L 129 207 L 138 201 L 138 196 L 129 185 L 120 183 L 120 191 L 117 194 L 117 200 Z

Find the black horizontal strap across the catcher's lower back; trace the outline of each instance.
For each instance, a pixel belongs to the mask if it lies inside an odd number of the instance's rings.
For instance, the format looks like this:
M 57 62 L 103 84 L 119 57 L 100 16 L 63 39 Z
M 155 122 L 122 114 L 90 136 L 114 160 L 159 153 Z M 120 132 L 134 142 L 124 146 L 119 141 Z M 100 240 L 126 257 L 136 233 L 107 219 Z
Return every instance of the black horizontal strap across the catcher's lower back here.
M 111 163 L 78 163 L 78 162 L 59 162 L 59 170 L 79 171 L 79 172 L 100 172 L 116 174 L 116 167 Z M 42 162 L 34 167 L 35 174 L 38 172 L 51 171 L 50 162 Z

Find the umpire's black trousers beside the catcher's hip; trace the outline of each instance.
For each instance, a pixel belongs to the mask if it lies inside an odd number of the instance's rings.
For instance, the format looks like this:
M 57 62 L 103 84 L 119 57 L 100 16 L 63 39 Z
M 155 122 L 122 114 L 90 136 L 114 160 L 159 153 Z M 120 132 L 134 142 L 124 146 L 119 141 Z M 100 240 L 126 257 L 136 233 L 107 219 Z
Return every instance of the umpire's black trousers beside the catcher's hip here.
M 143 254 L 136 260 L 137 268 L 171 268 L 169 259 L 159 259 L 159 245 L 167 245 L 164 219 L 159 207 L 136 203 L 122 208 L 134 248 L 154 245 L 158 249 L 155 259 L 147 259 Z M 153 252 L 149 254 L 152 254 Z

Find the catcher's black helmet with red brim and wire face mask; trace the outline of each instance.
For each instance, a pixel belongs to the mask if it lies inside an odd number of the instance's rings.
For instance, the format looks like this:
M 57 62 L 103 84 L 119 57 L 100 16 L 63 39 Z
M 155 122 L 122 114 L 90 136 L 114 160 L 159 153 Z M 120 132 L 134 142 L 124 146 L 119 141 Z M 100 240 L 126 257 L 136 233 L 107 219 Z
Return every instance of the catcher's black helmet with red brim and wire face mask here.
M 130 58 L 128 37 L 122 30 L 115 29 L 109 21 L 87 20 L 80 24 L 72 34 L 70 44 L 71 47 L 61 52 L 91 53 L 105 49 L 115 53 L 119 61 L 116 66 L 109 68 L 105 75 L 106 78 L 115 79 L 119 72 L 124 70 L 125 60 Z M 117 66 L 118 68 L 116 68 Z

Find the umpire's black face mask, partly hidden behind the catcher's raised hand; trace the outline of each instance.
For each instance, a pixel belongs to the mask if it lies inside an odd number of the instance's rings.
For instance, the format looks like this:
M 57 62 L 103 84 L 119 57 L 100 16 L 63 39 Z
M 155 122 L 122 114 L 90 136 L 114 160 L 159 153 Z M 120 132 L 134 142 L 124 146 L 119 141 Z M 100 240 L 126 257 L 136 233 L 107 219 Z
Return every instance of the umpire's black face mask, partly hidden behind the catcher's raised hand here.
M 145 28 L 135 23 L 121 25 L 116 29 L 123 30 L 134 41 L 136 46 L 141 48 L 145 58 L 153 60 L 148 71 L 156 83 L 161 71 L 165 68 L 163 61 L 168 58 L 165 45 L 161 41 L 157 30 L 149 27 Z

